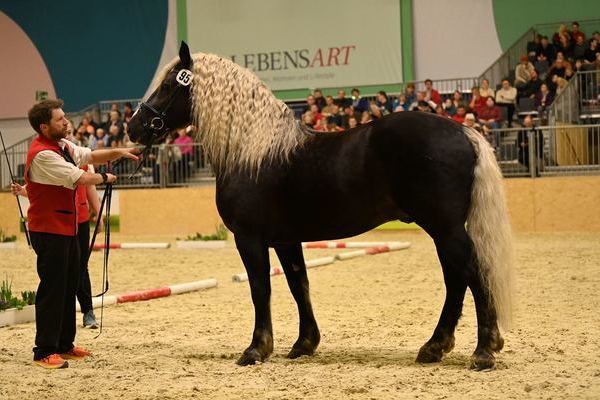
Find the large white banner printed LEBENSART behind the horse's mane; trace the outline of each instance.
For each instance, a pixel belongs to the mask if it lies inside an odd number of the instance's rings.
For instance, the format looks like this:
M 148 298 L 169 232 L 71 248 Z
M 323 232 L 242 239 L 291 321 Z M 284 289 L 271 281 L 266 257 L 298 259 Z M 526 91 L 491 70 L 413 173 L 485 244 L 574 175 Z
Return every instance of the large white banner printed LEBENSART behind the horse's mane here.
M 230 58 L 272 90 L 394 84 L 402 81 L 399 3 L 188 1 L 188 44 Z

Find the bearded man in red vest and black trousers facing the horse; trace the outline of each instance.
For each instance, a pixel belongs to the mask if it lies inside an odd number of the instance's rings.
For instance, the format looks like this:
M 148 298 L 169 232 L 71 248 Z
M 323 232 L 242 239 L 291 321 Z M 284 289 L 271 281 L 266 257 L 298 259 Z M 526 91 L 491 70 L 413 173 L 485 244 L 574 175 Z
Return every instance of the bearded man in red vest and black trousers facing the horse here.
M 65 139 L 68 121 L 62 100 L 44 100 L 29 110 L 29 123 L 39 134 L 25 164 L 31 244 L 37 255 L 40 284 L 35 301 L 36 336 L 33 360 L 45 368 L 66 368 L 66 359 L 90 352 L 74 345 L 75 293 L 80 276 L 77 240 L 77 186 L 112 183 L 112 174 L 79 168 L 121 157 L 137 160 L 137 149 L 91 151 Z

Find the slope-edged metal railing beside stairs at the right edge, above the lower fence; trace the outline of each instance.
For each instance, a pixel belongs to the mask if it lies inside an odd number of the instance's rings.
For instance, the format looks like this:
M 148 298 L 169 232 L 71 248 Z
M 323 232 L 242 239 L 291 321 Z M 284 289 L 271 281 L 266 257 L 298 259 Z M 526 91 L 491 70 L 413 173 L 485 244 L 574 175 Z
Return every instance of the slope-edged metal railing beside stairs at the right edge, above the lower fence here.
M 600 121 L 600 70 L 579 71 L 548 110 L 548 122 L 574 124 Z

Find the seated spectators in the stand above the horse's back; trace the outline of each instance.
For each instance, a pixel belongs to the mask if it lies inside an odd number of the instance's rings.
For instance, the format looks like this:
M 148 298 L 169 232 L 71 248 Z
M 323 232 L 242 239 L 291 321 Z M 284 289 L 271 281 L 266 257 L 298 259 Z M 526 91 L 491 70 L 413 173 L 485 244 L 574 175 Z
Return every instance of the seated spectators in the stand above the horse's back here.
M 528 51 L 515 66 L 514 79 L 503 79 L 497 88 L 483 79 L 470 94 L 460 90 L 440 94 L 431 79 L 425 80 L 423 91 L 416 91 L 409 83 L 397 96 L 380 91 L 373 99 L 361 97 L 358 89 L 352 89 L 351 98 L 344 90 L 334 98 L 316 89 L 306 99 L 302 121 L 317 131 L 337 132 L 393 112 L 423 111 L 452 118 L 486 134 L 491 129 L 511 127 L 522 98 L 531 99 L 543 120 L 545 111 L 575 72 L 600 69 L 600 33 L 594 32 L 587 39 L 577 22 L 572 23 L 571 31 L 561 25 L 552 42 L 536 36 Z M 486 136 L 493 140 L 492 135 Z

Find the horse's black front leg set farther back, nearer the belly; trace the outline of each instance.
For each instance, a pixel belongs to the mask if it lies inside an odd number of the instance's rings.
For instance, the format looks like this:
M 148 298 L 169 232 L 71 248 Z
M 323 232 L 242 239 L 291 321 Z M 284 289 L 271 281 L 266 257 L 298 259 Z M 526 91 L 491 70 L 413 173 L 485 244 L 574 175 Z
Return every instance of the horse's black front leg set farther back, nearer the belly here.
M 288 358 L 312 355 L 319 345 L 321 334 L 310 302 L 308 276 L 306 275 L 302 246 L 300 243 L 280 245 L 275 247 L 275 252 L 285 271 L 285 278 L 298 305 L 300 316 L 300 333 L 298 340 L 296 340 L 288 354 Z

